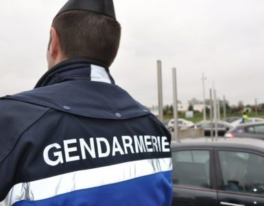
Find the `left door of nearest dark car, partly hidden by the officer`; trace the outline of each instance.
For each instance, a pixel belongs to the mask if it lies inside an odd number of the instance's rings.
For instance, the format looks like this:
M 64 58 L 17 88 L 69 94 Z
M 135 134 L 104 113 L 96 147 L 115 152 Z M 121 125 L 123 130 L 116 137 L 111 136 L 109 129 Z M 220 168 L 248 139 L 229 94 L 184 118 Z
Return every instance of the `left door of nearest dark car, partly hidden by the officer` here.
M 173 150 L 173 203 L 175 206 L 216 206 L 213 150 Z

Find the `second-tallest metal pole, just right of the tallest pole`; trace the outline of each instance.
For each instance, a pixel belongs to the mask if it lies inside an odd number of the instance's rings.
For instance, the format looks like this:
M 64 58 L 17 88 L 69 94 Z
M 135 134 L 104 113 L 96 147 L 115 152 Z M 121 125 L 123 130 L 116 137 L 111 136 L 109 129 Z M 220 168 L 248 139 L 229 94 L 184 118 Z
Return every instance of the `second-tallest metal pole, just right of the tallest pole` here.
M 174 134 L 177 142 L 180 142 L 178 136 L 178 95 L 177 95 L 177 74 L 176 68 L 172 68 L 172 86 L 173 86 L 173 118 L 174 118 Z

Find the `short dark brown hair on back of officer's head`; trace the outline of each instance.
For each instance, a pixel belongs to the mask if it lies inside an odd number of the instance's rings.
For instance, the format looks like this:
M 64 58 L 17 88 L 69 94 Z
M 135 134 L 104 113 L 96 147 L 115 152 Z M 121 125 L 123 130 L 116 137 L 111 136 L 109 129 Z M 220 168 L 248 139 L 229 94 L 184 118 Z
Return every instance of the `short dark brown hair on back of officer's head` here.
M 108 16 L 82 10 L 63 12 L 53 19 L 62 54 L 86 57 L 110 66 L 117 56 L 121 26 Z

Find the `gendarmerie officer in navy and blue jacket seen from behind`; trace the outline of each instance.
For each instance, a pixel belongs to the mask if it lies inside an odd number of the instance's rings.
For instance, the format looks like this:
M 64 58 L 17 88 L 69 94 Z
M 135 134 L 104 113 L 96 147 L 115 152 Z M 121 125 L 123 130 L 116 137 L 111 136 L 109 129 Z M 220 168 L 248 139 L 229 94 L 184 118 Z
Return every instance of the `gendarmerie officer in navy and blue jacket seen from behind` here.
M 0 100 L 0 205 L 171 205 L 171 135 L 115 84 L 111 0 L 70 0 L 53 19 L 49 70 Z

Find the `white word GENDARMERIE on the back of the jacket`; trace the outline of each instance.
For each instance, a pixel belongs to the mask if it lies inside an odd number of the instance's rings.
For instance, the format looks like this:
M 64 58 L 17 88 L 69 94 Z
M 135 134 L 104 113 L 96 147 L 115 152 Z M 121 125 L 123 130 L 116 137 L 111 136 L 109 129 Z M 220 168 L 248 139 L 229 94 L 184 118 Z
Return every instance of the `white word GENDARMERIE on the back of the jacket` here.
M 63 141 L 63 146 L 58 143 L 46 146 L 43 151 L 43 157 L 45 163 L 56 166 L 59 163 L 79 161 L 80 159 L 144 152 L 170 152 L 167 137 L 156 137 L 153 135 L 134 135 L 130 137 L 124 135 L 121 136 L 121 139 L 113 137 L 112 144 L 104 137 L 67 139 Z

